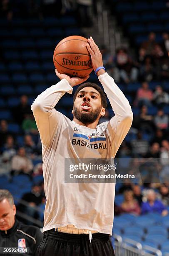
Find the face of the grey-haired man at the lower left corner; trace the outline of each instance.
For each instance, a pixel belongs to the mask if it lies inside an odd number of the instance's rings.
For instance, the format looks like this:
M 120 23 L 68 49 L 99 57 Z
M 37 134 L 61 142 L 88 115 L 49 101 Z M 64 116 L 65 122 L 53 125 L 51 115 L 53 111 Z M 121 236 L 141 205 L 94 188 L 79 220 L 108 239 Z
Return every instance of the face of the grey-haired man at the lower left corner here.
M 16 207 L 10 205 L 7 199 L 0 202 L 0 230 L 8 230 L 15 223 Z

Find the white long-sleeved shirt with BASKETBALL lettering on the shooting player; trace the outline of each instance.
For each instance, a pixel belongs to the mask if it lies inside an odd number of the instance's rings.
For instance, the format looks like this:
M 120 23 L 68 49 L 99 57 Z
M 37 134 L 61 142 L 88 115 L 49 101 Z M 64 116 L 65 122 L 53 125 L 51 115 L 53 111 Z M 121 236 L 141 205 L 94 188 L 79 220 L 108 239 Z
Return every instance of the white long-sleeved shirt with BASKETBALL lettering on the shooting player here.
M 95 129 L 71 121 L 55 110 L 73 88 L 66 79 L 42 92 L 32 104 L 42 141 L 46 207 L 43 231 L 74 225 L 112 234 L 115 184 L 65 183 L 65 158 L 114 158 L 132 124 L 132 110 L 123 92 L 107 73 L 100 75 L 114 117 Z M 104 141 L 99 141 L 100 134 Z M 95 145 L 95 146 L 94 146 Z

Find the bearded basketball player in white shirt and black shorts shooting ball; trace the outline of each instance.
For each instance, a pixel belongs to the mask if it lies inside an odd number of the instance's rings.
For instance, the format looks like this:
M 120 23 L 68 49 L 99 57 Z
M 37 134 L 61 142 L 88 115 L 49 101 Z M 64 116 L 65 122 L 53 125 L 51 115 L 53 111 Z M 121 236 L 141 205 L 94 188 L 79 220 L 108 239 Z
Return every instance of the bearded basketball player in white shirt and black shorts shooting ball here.
M 42 141 L 47 198 L 44 238 L 37 250 L 38 256 L 114 256 L 109 236 L 112 235 L 115 184 L 70 184 L 65 183 L 64 176 L 65 158 L 114 158 L 132 124 L 129 102 L 102 67 L 102 54 L 92 37 L 88 39 L 87 49 L 115 116 L 97 125 L 104 116 L 107 102 L 101 88 L 90 82 L 77 87 L 73 121 L 55 110 L 66 92 L 72 94 L 72 87 L 89 77 L 70 78 L 57 70 L 61 81 L 38 95 L 32 104 Z

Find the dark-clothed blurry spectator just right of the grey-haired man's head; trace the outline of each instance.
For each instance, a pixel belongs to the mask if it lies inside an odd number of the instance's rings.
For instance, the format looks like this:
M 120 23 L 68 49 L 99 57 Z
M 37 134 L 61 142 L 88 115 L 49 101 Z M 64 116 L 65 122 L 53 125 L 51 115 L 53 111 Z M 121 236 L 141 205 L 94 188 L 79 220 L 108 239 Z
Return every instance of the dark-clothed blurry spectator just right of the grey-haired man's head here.
M 38 219 L 39 213 L 36 206 L 40 205 L 42 202 L 42 193 L 41 193 L 41 187 L 37 184 L 32 186 L 31 192 L 25 193 L 22 196 L 22 200 L 27 202 L 27 205 L 22 206 L 21 210 L 31 216 L 32 218 Z M 27 224 L 32 225 L 30 221 L 27 222 Z

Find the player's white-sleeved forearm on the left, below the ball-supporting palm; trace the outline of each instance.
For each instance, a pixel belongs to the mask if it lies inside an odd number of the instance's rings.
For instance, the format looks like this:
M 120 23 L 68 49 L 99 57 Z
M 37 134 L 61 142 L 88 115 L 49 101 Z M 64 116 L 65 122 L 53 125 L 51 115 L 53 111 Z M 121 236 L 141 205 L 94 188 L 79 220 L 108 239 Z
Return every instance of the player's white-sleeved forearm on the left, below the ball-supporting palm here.
M 48 112 L 55 108 L 55 105 L 65 94 L 65 92 L 72 94 L 72 90 L 73 88 L 70 86 L 67 80 L 62 79 L 60 82 L 52 85 L 51 87 L 47 88 L 47 90 L 38 95 L 31 106 L 31 110 L 33 112 L 36 110 Z

